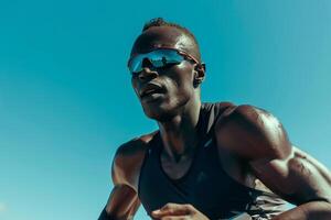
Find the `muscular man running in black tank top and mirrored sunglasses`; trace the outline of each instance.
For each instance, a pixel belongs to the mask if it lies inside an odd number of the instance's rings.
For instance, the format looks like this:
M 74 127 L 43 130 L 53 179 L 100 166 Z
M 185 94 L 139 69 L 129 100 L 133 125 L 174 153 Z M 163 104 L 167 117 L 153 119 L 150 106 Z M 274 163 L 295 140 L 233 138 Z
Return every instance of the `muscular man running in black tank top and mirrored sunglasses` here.
M 186 29 L 151 20 L 128 62 L 132 87 L 159 130 L 121 145 L 114 189 L 99 220 L 331 219 L 331 177 L 292 146 L 270 113 L 201 103 L 205 76 Z M 284 200 L 297 205 L 284 211 Z

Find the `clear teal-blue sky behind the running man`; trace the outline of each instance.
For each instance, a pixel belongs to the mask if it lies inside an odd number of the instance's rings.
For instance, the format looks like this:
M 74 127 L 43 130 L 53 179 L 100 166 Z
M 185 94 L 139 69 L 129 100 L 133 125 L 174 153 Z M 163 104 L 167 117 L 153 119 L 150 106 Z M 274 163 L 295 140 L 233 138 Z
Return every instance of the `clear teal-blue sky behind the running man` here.
M 270 111 L 331 166 L 331 1 L 1 0 L 1 220 L 98 217 L 116 148 L 157 129 L 126 68 L 156 16 L 196 35 L 204 101 Z

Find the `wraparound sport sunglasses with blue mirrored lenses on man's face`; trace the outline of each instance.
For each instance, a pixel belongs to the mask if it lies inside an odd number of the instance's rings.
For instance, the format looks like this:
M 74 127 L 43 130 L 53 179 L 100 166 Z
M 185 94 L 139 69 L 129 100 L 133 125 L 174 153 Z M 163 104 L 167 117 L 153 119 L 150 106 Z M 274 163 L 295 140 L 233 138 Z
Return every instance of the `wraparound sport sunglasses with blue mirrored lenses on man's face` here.
M 164 68 L 172 64 L 180 64 L 182 61 L 188 59 L 199 64 L 193 56 L 183 51 L 175 48 L 158 48 L 146 54 L 138 54 L 132 56 L 128 62 L 128 68 L 132 76 L 139 74 L 143 69 L 146 61 L 154 68 Z

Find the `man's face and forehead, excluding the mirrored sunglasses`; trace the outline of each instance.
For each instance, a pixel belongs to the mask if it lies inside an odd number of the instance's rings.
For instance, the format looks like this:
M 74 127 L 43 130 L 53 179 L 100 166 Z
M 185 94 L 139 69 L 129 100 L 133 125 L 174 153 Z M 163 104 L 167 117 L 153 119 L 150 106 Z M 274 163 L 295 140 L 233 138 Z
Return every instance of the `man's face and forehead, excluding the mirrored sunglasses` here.
M 171 47 L 195 55 L 194 44 L 180 30 L 171 26 L 151 28 L 135 42 L 131 56 L 145 54 L 159 47 Z M 167 121 L 184 110 L 195 98 L 194 67 L 196 64 L 184 59 L 180 64 L 154 68 L 148 61 L 143 69 L 131 78 L 132 87 L 145 113 L 154 120 Z

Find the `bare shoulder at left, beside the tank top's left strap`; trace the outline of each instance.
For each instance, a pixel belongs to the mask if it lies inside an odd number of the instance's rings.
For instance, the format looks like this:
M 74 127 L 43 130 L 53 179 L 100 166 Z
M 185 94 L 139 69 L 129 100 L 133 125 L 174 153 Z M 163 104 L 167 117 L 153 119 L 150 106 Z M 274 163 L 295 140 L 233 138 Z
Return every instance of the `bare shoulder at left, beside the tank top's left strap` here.
M 117 148 L 111 166 L 111 177 L 115 185 L 128 185 L 137 190 L 146 151 L 156 133 L 141 135 Z

